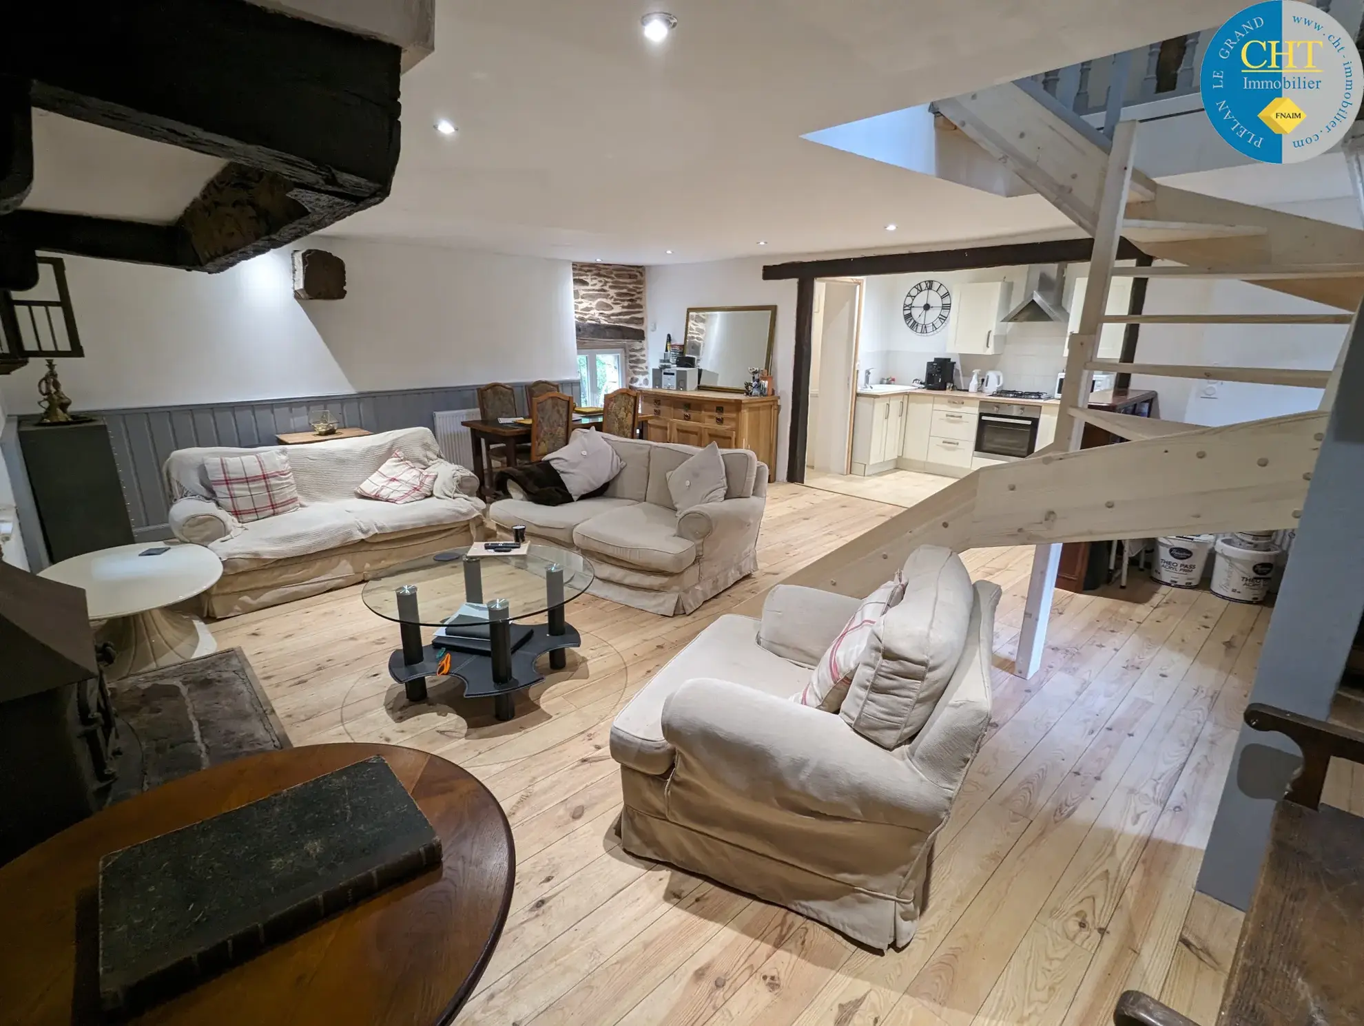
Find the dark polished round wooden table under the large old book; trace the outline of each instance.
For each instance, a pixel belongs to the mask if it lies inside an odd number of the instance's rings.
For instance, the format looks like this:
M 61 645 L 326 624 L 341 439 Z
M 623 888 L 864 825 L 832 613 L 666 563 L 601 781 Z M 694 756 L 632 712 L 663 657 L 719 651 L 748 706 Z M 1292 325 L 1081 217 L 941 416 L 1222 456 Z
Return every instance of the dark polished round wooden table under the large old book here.
M 496 947 L 512 902 L 512 827 L 458 766 L 412 748 L 326 744 L 248 756 L 105 809 L 0 867 L 0 1023 L 100 1023 L 95 880 L 109 852 L 382 755 L 441 835 L 435 871 L 127 1021 L 450 1022 Z

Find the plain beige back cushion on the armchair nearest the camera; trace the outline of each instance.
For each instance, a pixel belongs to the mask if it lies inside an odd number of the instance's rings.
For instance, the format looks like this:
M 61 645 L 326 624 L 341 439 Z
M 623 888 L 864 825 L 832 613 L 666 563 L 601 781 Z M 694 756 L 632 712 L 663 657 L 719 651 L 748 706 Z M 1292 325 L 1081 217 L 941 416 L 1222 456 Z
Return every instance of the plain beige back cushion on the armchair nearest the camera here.
M 910 741 L 952 679 L 971 621 L 971 576 L 951 549 L 904 561 L 904 598 L 872 627 L 839 714 L 883 748 Z

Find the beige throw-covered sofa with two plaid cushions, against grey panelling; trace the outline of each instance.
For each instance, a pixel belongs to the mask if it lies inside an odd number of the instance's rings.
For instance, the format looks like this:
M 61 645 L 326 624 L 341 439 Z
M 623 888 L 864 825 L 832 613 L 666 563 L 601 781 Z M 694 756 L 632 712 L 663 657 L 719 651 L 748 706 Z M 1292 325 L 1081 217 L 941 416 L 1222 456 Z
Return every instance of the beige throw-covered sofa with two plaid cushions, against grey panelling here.
M 213 501 L 206 458 L 278 448 L 183 448 L 165 462 L 170 530 L 180 541 L 206 545 L 222 560 L 222 576 L 205 595 L 209 616 L 236 616 L 319 595 L 483 535 L 477 478 L 441 458 L 430 428 L 289 446 L 303 504 L 293 512 L 240 523 Z M 436 466 L 431 499 L 398 506 L 355 493 L 394 450 L 402 450 L 417 466 Z

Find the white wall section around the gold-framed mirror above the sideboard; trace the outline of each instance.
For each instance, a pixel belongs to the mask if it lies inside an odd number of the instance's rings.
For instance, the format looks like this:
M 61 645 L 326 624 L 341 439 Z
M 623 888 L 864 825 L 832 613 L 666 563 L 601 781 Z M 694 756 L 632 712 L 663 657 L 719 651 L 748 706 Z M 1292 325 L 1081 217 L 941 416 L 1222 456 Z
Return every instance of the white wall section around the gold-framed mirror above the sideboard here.
M 776 474 L 786 478 L 787 432 L 791 425 L 791 356 L 795 349 L 795 282 L 762 281 L 765 260 L 716 260 L 712 263 L 659 264 L 645 278 L 649 367 L 663 356 L 663 342 L 686 335 L 687 307 L 753 307 L 776 304 L 776 341 L 772 377 L 780 397 Z

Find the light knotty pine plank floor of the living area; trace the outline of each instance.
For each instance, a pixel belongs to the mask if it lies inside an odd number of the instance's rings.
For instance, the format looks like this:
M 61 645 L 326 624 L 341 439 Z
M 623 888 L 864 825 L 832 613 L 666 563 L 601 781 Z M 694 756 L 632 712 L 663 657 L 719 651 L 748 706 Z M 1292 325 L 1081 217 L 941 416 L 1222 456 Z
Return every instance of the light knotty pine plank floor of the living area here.
M 477 774 L 517 849 L 506 931 L 458 1022 L 498 1026 L 1098 1026 L 1135 986 L 1211 1026 L 1240 913 L 1194 894 L 1269 610 L 1133 582 L 1057 593 L 1041 672 L 1011 674 L 1033 550 L 998 582 L 994 717 L 937 846 L 908 947 L 872 954 L 794 913 L 638 861 L 612 834 L 615 711 L 712 619 L 899 511 L 775 485 L 761 572 L 687 617 L 591 595 L 584 649 L 510 724 L 387 680 L 393 625 L 359 589 L 213 625 L 296 744 L 394 741 Z

